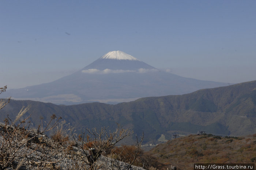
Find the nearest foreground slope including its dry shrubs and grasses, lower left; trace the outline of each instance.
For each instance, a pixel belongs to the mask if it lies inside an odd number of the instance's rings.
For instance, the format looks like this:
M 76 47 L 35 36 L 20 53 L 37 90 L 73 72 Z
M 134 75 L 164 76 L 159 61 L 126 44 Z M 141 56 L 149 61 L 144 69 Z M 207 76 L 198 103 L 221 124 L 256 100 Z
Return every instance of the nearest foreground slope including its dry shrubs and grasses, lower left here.
M 117 139 L 122 138 L 123 131 L 101 133 L 102 138 L 96 135 L 92 139 L 78 139 L 64 131 L 57 133 L 54 124 L 36 132 L 25 123 L 28 120 L 20 121 L 16 126 L 8 125 L 7 121 L 7 124 L 0 122 L 1 170 L 145 170 L 103 152 L 112 150 Z M 52 138 L 44 134 L 50 129 L 55 132 Z M 106 134 L 112 134 L 112 137 L 108 138 Z M 92 144 L 94 140 L 101 143 Z M 110 141 L 112 145 L 108 143 Z M 89 144 L 93 148 L 85 147 Z

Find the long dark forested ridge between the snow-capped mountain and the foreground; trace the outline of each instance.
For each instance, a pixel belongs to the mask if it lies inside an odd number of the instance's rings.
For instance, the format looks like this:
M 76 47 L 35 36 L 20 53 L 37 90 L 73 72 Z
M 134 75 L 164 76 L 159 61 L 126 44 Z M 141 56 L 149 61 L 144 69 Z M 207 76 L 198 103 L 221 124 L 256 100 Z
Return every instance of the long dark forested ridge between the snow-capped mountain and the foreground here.
M 117 105 L 85 103 L 54 105 L 35 101 L 12 100 L 1 110 L 0 120 L 9 114 L 15 118 L 22 106 L 31 105 L 27 116 L 40 124 L 39 117 L 49 120 L 52 114 L 62 117 L 76 128 L 116 127 L 144 132 L 144 142 L 157 142 L 161 134 L 170 139 L 173 132 L 241 136 L 256 133 L 256 81 L 226 87 L 203 89 L 184 95 L 140 98 Z

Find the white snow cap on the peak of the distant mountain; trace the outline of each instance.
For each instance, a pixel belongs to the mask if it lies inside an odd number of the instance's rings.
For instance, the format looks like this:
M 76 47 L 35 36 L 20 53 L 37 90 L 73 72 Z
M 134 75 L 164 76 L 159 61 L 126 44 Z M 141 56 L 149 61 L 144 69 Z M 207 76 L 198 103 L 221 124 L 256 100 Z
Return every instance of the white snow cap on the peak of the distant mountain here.
M 122 51 L 110 51 L 108 53 L 106 53 L 104 56 L 102 56 L 101 58 L 104 59 L 116 59 L 116 60 L 137 60 L 139 61 L 137 58 L 124 53 Z

